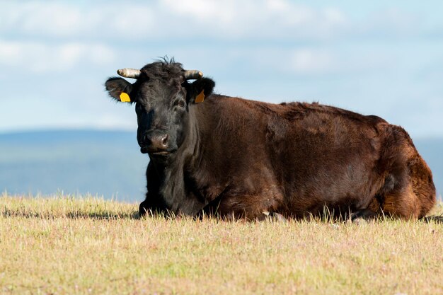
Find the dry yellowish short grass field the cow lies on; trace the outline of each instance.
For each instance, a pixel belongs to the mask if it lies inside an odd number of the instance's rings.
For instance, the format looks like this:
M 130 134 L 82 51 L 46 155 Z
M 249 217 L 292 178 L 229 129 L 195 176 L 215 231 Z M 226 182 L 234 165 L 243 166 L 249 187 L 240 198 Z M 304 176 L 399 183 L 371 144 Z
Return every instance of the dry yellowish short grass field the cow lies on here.
M 0 293 L 443 294 L 443 224 L 138 219 L 136 209 L 4 194 Z

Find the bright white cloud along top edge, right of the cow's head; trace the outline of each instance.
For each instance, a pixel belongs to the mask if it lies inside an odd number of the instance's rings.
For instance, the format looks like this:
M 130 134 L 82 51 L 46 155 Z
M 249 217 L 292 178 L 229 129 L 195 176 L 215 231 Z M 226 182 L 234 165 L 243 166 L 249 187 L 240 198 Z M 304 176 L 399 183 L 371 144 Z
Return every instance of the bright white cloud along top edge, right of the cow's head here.
M 226 39 L 284 36 L 323 40 L 326 33 L 347 23 L 338 9 L 314 9 L 286 0 L 163 0 L 161 4 L 178 20 L 187 21 L 191 32 L 221 34 Z

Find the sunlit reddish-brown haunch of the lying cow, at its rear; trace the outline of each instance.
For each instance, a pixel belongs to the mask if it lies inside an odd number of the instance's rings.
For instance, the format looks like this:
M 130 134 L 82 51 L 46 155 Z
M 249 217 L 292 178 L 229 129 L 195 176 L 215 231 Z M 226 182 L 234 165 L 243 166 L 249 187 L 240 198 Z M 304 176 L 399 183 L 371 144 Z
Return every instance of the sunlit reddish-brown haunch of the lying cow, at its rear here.
M 381 213 L 402 219 L 425 216 L 436 202 L 432 173 L 418 154 L 407 132 L 389 125 L 378 161 L 384 185 L 379 196 Z

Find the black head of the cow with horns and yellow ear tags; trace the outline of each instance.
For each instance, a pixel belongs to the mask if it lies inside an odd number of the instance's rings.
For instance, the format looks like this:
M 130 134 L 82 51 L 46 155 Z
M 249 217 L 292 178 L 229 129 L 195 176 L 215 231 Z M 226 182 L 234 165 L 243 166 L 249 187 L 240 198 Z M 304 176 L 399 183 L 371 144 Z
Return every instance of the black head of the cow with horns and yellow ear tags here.
M 137 141 L 142 153 L 169 156 L 186 136 L 189 109 L 212 93 L 214 81 L 202 78 L 200 71 L 185 71 L 176 62 L 154 62 L 141 70 L 122 69 L 121 76 L 137 79 L 130 83 L 110 78 L 106 90 L 119 102 L 135 103 Z M 193 83 L 188 80 L 195 79 Z

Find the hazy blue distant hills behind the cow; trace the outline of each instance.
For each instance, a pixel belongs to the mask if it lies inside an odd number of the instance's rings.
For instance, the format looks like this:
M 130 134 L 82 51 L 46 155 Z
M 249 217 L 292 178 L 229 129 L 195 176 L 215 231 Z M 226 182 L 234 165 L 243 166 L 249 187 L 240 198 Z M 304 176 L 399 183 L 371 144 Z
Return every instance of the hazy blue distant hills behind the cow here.
M 443 190 L 443 139 L 416 139 L 415 146 Z M 135 132 L 44 131 L 0 134 L 0 190 L 9 194 L 91 193 L 105 199 L 144 199 L 149 157 Z

